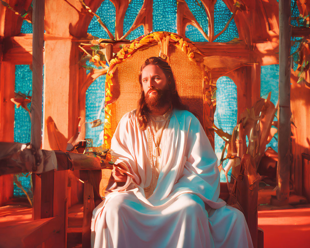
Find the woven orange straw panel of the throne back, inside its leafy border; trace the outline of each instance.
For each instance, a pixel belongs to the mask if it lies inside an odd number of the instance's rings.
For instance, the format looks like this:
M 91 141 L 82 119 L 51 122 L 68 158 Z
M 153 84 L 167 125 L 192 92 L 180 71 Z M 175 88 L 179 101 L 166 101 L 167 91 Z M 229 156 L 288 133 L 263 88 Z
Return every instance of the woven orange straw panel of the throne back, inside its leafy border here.
M 152 56 L 159 56 L 159 45 L 139 49 L 128 59 L 117 65 L 120 95 L 112 109 L 112 132 L 122 116 L 137 108 L 140 94 L 139 70 L 144 61 Z M 174 74 L 176 88 L 182 103 L 189 107 L 200 121 L 203 113 L 203 73 L 187 55 L 173 45 L 169 47 L 169 64 Z M 115 124 L 114 124 L 115 123 Z

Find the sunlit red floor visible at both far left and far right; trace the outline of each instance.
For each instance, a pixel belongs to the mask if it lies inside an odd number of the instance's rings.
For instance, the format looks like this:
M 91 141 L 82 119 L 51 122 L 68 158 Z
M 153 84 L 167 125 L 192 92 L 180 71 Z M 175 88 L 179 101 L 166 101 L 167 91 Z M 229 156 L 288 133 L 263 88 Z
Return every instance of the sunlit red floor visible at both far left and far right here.
M 0 226 L 31 220 L 30 207 L 6 206 L 0 210 Z M 307 208 L 260 210 L 258 226 L 264 231 L 264 248 L 310 248 L 310 205 Z

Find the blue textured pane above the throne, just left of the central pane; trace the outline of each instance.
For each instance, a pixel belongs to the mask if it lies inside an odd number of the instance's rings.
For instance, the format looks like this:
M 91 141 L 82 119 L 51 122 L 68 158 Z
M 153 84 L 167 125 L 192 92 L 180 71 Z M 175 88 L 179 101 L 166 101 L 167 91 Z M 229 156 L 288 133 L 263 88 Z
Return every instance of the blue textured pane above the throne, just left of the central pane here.
M 143 0 L 131 0 L 126 10 L 124 18 L 124 34 L 131 28 L 136 16 L 138 15 L 143 4 Z M 144 34 L 143 26 L 139 26 L 126 37 L 128 40 L 134 40 Z

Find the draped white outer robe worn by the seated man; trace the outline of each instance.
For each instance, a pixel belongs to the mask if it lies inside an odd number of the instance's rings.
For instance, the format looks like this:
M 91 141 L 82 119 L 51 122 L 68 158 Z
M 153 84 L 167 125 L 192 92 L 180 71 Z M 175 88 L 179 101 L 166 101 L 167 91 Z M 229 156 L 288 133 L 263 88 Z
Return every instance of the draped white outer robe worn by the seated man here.
M 95 208 L 92 247 L 253 247 L 243 214 L 219 198 L 217 158 L 192 113 L 174 110 L 163 131 L 160 174 L 148 199 L 147 131 L 135 111 L 122 117 L 111 149 L 134 179 Z

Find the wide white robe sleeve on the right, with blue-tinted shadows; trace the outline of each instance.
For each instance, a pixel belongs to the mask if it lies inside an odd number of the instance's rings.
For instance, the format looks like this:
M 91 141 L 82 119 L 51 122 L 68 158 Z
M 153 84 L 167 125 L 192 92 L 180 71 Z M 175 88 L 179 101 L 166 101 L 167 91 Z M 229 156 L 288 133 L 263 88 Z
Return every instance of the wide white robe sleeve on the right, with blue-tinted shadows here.
M 174 192 L 197 194 L 212 208 L 226 204 L 219 199 L 220 183 L 217 157 L 200 122 L 191 115 L 185 148 L 183 173 L 173 187 Z

